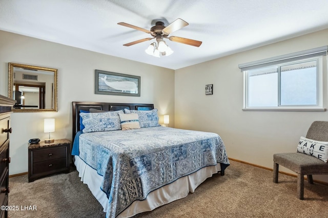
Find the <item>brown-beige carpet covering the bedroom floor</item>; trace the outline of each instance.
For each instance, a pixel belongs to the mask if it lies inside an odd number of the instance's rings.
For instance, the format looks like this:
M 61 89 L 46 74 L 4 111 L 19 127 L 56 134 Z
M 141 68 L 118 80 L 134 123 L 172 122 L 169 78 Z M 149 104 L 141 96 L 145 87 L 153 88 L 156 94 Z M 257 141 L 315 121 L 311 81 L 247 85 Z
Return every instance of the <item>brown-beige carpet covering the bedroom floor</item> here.
M 135 217 L 328 217 L 328 186 L 304 182 L 304 199 L 296 197 L 296 178 L 230 161 L 226 175 L 207 179 L 184 199 Z M 27 175 L 10 178 L 9 217 L 105 217 L 100 204 L 77 172 L 28 183 Z M 21 210 L 21 206 L 36 210 Z

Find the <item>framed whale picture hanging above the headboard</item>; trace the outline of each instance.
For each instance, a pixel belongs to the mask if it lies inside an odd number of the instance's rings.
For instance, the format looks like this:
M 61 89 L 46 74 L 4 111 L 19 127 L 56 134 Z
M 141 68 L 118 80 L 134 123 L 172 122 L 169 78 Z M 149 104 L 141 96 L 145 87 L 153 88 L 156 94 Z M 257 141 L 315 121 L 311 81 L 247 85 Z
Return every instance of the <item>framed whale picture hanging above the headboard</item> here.
M 140 77 L 95 70 L 95 94 L 140 96 Z

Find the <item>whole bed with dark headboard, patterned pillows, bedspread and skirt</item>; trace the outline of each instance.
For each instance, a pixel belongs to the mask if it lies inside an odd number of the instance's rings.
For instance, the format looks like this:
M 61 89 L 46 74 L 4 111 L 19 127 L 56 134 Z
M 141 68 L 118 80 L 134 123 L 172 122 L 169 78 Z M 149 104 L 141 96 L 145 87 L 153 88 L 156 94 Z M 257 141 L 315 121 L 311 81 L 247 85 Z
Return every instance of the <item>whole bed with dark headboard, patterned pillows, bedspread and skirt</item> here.
M 185 198 L 230 164 L 219 135 L 162 127 L 153 104 L 72 102 L 72 110 L 74 164 L 106 217 L 131 217 Z M 117 129 L 117 116 L 118 128 L 133 122 L 138 128 Z M 98 128 L 104 117 L 111 125 Z M 134 118 L 125 123 L 126 117 Z

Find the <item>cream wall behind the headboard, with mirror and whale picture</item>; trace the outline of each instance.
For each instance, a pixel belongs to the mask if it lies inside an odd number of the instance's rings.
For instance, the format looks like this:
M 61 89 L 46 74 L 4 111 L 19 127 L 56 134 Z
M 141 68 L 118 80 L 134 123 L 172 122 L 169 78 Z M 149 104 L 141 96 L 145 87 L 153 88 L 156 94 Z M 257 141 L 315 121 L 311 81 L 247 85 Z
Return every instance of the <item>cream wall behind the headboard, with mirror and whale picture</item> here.
M 153 103 L 160 123 L 169 114 L 174 126 L 174 70 L 0 31 L 0 94 L 5 96 L 8 62 L 58 69 L 58 112 L 12 113 L 10 175 L 28 171 L 28 140 L 49 136 L 43 132 L 43 118 L 56 119 L 52 137 L 72 140 L 72 101 Z M 141 96 L 94 94 L 95 69 L 140 76 Z

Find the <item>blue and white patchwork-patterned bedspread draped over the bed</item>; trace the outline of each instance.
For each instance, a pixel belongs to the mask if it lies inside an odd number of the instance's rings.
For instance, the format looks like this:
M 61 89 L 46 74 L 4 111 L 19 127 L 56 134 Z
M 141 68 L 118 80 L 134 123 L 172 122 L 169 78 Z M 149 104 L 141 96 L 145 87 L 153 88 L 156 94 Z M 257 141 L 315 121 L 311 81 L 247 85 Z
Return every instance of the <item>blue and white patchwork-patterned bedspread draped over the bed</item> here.
M 107 217 L 202 167 L 230 164 L 219 135 L 168 127 L 83 133 L 79 156 L 104 176 Z

